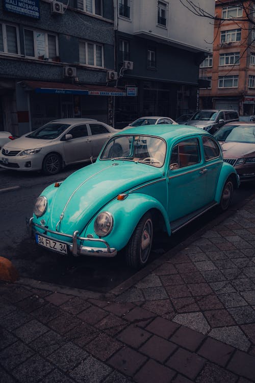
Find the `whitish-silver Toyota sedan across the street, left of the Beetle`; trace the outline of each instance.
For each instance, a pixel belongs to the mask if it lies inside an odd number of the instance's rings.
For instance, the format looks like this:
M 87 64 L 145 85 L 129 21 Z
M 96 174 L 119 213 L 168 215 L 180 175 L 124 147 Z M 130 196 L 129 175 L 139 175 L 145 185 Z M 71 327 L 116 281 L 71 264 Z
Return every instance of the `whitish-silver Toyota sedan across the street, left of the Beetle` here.
M 118 130 L 86 118 L 62 118 L 8 142 L 0 166 L 56 174 L 63 166 L 97 158 L 105 141 Z

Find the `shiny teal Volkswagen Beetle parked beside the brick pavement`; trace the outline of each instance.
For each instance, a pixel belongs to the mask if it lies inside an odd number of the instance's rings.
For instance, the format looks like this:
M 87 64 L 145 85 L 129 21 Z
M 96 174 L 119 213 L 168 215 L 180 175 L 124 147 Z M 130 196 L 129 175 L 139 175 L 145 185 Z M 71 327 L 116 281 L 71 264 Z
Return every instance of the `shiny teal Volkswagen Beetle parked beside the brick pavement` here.
M 239 186 L 218 142 L 204 130 L 151 125 L 112 136 L 95 163 L 37 198 L 28 221 L 38 245 L 65 255 L 114 257 L 143 267 L 157 230 L 171 235 Z

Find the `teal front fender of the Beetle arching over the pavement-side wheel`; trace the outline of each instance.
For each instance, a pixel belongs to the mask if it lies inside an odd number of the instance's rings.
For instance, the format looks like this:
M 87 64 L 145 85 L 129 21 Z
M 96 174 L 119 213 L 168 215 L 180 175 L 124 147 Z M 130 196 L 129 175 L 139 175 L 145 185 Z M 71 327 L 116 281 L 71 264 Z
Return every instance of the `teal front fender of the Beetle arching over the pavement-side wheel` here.
M 168 235 L 170 235 L 171 230 L 169 219 L 164 206 L 151 196 L 134 193 L 129 194 L 123 201 L 115 199 L 101 209 L 101 211 L 110 212 L 114 222 L 111 233 L 103 239 L 118 251 L 123 249 L 129 242 L 130 237 L 142 216 L 150 209 L 158 209 L 162 213 Z M 92 234 L 94 238 L 98 238 L 94 232 L 94 222 L 96 217 L 97 214 L 83 233 L 85 237 L 88 236 L 88 234 Z

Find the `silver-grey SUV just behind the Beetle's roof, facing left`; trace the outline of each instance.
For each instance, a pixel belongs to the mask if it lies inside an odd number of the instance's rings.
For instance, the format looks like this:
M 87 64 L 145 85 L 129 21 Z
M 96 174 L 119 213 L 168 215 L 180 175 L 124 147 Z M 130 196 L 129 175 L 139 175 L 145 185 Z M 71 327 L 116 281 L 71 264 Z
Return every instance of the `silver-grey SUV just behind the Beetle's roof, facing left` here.
M 239 121 L 236 110 L 202 109 L 193 114 L 186 125 L 196 126 L 213 134 L 224 124 L 233 121 Z

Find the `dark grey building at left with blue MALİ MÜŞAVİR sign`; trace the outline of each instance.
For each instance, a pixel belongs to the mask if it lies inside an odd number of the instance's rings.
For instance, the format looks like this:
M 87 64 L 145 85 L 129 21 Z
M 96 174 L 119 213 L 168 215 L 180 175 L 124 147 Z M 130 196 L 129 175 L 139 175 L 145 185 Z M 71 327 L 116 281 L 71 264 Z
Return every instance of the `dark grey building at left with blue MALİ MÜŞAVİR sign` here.
M 64 4 L 65 3 L 65 4 Z M 112 123 L 112 0 L 0 3 L 0 130 L 21 135 L 61 117 Z

